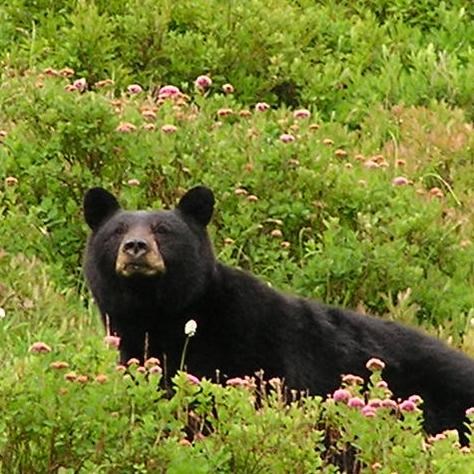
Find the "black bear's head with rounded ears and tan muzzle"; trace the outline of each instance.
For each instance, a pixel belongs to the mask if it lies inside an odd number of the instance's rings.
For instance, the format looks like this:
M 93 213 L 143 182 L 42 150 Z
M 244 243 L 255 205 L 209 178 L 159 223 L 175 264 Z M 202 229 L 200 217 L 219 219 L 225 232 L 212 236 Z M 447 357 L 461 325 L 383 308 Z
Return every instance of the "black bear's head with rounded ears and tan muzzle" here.
M 87 191 L 84 216 L 92 234 L 86 277 L 93 293 L 97 281 L 152 285 L 155 294 L 177 300 L 202 290 L 215 266 L 206 230 L 213 209 L 212 191 L 203 186 L 188 191 L 175 209 L 158 211 L 126 211 L 105 189 Z

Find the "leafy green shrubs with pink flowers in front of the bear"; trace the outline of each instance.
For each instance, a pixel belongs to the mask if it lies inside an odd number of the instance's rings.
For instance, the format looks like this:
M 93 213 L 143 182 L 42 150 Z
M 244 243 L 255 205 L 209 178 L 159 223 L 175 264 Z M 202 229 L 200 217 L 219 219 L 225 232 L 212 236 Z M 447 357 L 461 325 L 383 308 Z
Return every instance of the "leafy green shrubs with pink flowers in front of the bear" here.
M 289 394 L 278 379 L 222 387 L 184 372 L 167 395 L 156 360 L 111 370 L 95 344 L 65 354 L 36 342 L 2 369 L 5 472 L 429 472 L 433 458 L 439 469 L 473 466 L 455 433 L 425 440 L 419 397 L 397 403 L 377 371 L 367 392 L 346 376 L 324 402 Z

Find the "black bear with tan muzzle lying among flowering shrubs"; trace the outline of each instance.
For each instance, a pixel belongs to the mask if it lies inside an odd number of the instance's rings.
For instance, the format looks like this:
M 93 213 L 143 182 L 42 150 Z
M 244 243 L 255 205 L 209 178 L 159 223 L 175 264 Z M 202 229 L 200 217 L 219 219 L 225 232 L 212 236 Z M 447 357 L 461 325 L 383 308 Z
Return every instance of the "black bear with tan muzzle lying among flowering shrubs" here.
M 382 359 L 395 396 L 424 400 L 425 427 L 463 431 L 474 405 L 474 361 L 400 324 L 287 296 L 218 262 L 206 226 L 214 196 L 188 191 L 173 210 L 125 211 L 102 188 L 90 189 L 84 213 L 92 229 L 85 274 L 102 316 L 120 336 L 123 363 L 158 357 L 179 369 L 184 325 L 197 333 L 186 368 L 210 379 L 281 377 L 294 389 L 326 395 L 341 374 L 367 378 L 368 359 Z M 145 341 L 146 344 L 145 344 Z M 466 439 L 466 438 L 464 438 Z

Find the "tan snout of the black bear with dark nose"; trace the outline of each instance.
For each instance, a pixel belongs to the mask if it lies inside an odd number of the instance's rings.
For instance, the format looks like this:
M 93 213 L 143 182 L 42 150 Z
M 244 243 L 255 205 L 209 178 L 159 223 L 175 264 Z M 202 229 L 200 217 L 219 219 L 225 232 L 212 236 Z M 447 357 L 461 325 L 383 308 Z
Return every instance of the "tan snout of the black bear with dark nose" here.
M 125 235 L 118 249 L 115 271 L 124 277 L 164 273 L 165 263 L 153 236 L 144 232 Z

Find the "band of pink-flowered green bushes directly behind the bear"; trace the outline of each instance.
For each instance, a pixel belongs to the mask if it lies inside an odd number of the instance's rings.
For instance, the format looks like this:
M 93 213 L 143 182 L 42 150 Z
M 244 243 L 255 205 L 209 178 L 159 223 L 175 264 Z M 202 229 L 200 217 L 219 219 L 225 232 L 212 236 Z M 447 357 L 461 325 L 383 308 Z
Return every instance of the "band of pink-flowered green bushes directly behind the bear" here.
M 13 233 L 32 228 L 28 242 L 12 236 L 6 249 L 40 254 L 61 285 L 77 286 L 85 241 L 80 207 L 88 187 L 112 188 L 131 207 L 168 207 L 183 189 L 205 183 L 219 201 L 214 235 L 224 261 L 284 289 L 352 307 L 363 303 L 379 314 L 411 288 L 419 321 L 465 332 L 474 307 L 466 278 L 472 248 L 462 244 L 463 225 L 453 219 L 463 191 L 449 184 L 463 166 L 457 157 L 470 166 L 471 142 L 464 136 L 458 149 L 447 143 L 442 154 L 434 148 L 423 161 L 416 154 L 426 153 L 429 143 L 408 149 L 413 185 L 394 186 L 392 179 L 404 173 L 397 153 L 411 146 L 404 143 L 410 134 L 433 140 L 430 134 L 443 125 L 416 130 L 410 109 L 387 110 L 368 116 L 359 135 L 335 123 L 315 129 L 285 108 L 242 117 L 235 99 L 218 92 L 157 105 L 145 92 L 114 98 L 106 89 L 69 91 L 70 81 L 13 77 L 0 106 L 11 124 L 1 166 L 17 180 L 0 197 L 4 222 Z M 21 96 L 9 101 L 15 91 Z M 446 123 L 464 120 L 439 111 Z M 396 113 L 412 121 L 409 131 Z M 164 132 L 169 125 L 176 131 Z M 294 141 L 282 142 L 283 132 Z M 460 139 L 457 130 L 454 135 Z M 381 166 L 367 168 L 370 156 Z M 434 186 L 443 189 L 441 200 L 428 197 Z M 251 194 L 256 201 L 249 201 Z M 275 228 L 281 237 L 273 236 Z M 225 239 L 233 243 L 223 247 Z

